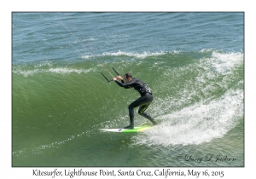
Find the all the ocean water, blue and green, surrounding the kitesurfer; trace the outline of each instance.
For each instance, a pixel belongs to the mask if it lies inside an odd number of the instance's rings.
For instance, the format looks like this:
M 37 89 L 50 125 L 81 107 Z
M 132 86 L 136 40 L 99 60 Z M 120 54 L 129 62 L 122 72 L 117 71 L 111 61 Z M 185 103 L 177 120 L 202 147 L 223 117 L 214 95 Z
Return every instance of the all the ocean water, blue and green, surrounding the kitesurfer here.
M 112 67 L 153 91 L 153 129 L 99 130 L 139 97 Z M 244 166 L 244 14 L 14 12 L 12 166 Z

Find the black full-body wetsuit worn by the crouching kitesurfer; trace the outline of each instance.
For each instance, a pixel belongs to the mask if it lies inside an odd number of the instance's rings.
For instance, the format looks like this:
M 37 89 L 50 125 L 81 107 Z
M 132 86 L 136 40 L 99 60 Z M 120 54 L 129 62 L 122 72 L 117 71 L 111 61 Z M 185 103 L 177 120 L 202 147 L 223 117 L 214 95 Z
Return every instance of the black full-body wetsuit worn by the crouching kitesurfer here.
M 138 113 L 142 115 L 144 118 L 147 118 L 150 120 L 153 124 L 156 124 L 154 121 L 154 118 L 151 118 L 148 113 L 145 113 L 145 110 L 148 108 L 150 103 L 153 101 L 153 95 L 151 90 L 148 87 L 148 84 L 145 84 L 142 80 L 137 78 L 132 78 L 131 81 L 124 83 L 122 80 L 122 83 L 118 80 L 115 81 L 119 86 L 124 87 L 125 89 L 134 88 L 134 90 L 137 90 L 141 97 L 138 98 L 136 101 L 133 101 L 131 105 L 129 105 L 129 116 L 130 116 L 130 126 L 131 129 L 133 129 L 134 126 L 134 107 L 139 107 Z M 129 128 L 127 126 L 126 128 Z

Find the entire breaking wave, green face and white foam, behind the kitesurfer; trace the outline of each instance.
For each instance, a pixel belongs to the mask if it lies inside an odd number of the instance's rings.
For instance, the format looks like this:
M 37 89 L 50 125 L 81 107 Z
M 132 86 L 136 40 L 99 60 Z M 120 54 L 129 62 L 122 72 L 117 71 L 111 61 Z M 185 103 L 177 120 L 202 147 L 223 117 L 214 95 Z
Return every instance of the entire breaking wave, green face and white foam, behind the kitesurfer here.
M 127 58 L 115 61 L 116 55 Z M 124 52 L 102 55 L 103 60 L 108 59 L 106 66 L 117 66 L 118 72 L 132 72 L 153 90 L 154 101 L 148 113 L 161 123 L 145 137 L 136 138 L 135 143 L 197 145 L 224 136 L 239 123 L 243 116 L 244 81 L 241 52 L 160 52 L 142 58 L 143 55 Z M 46 120 L 50 116 L 47 120 L 54 118 L 61 124 L 64 119 L 73 124 L 74 116 L 86 116 L 88 121 L 82 121 L 81 125 L 94 126 L 97 121 L 102 124 L 98 128 L 105 128 L 106 124 L 123 126 L 128 118 L 126 105 L 137 99 L 137 94 L 127 90 L 129 95 L 124 95 L 124 90 L 106 82 L 98 72 L 100 68 L 98 63 L 88 61 L 13 65 L 14 121 L 19 124 L 19 118 Z M 65 117 L 64 112 L 68 113 Z M 38 113 L 42 116 L 38 117 Z M 105 114 L 112 118 L 110 124 L 105 123 Z M 136 118 L 137 123 L 145 122 L 144 118 Z

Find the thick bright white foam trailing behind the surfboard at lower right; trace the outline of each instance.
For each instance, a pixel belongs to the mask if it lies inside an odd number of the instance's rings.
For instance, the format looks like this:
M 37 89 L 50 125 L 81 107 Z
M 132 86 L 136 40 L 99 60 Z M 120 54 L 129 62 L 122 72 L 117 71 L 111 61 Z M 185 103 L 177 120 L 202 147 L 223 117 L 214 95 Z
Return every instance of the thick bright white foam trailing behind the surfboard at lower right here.
M 243 116 L 243 92 L 230 90 L 220 100 L 197 103 L 175 113 L 162 115 L 163 121 L 136 143 L 147 145 L 189 145 L 223 137 Z

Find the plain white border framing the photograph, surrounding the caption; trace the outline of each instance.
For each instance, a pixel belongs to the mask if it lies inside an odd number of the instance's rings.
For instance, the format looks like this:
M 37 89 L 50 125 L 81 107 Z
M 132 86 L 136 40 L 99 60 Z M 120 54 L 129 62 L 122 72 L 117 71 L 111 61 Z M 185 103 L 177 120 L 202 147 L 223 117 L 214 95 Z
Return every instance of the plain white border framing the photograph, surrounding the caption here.
M 11 13 L 13 11 L 241 11 L 245 12 L 245 167 L 241 168 L 210 168 L 224 170 L 224 178 L 255 177 L 254 159 L 255 137 L 253 131 L 256 118 L 255 111 L 255 9 L 252 3 L 237 0 L 180 0 L 180 1 L 138 1 L 138 0 L 86 0 L 86 1 L 7 1 L 0 3 L 1 18 L 1 59 L 0 59 L 0 99 L 1 99 L 1 177 L 35 178 L 32 168 L 11 167 Z M 172 168 L 188 170 L 188 168 Z M 64 169 L 61 169 L 64 170 Z M 94 170 L 90 168 L 90 170 Z M 98 170 L 98 169 L 96 169 Z M 118 169 L 117 169 L 118 170 Z M 136 170 L 136 169 L 134 169 Z M 148 169 L 154 170 L 154 169 Z M 205 168 L 195 168 L 205 170 Z M 250 177 L 250 178 L 253 178 Z M 49 177 L 47 177 L 49 178 Z M 50 177 L 51 178 L 51 177 Z M 83 177 L 84 178 L 84 177 Z M 118 177 L 115 177 L 118 178 Z M 164 178 L 164 177 L 161 177 Z M 173 177 L 172 177 L 173 178 Z M 180 178 L 180 177 L 178 177 Z M 188 177 L 186 177 L 188 178 Z

